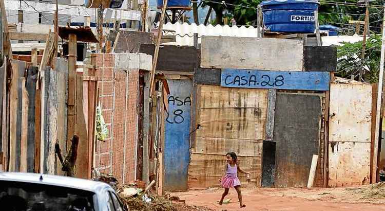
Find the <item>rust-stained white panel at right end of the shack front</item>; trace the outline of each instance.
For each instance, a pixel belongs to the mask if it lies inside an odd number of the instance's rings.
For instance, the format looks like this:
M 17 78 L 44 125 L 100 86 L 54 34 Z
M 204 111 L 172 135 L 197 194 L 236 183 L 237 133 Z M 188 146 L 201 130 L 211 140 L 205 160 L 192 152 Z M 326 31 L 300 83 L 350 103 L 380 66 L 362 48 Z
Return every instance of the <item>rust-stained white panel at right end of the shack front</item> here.
M 372 85 L 336 81 L 330 89 L 328 186 L 369 184 Z

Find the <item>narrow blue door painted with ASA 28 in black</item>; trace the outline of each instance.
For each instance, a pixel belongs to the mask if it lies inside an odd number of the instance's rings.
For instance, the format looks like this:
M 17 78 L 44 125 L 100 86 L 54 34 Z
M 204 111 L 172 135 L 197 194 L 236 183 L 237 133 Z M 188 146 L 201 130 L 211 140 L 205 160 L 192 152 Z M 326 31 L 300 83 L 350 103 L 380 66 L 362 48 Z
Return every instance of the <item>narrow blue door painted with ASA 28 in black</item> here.
M 190 160 L 190 111 L 192 82 L 167 80 L 168 114 L 165 120 L 164 186 L 169 190 L 187 190 Z

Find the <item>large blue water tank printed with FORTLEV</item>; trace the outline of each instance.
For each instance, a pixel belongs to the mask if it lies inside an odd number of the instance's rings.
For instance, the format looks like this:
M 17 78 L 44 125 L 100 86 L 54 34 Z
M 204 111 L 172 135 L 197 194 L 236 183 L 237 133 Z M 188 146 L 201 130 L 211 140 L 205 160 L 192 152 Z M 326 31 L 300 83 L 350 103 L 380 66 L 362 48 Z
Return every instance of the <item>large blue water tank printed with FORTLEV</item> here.
M 317 0 L 270 0 L 261 3 L 263 24 L 270 31 L 314 33 Z

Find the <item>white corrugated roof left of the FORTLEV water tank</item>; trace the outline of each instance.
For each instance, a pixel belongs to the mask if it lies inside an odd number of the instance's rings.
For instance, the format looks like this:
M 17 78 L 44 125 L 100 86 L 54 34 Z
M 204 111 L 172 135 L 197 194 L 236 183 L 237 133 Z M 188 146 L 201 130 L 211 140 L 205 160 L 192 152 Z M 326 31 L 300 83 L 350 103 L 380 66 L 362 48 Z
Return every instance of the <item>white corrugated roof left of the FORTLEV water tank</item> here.
M 244 38 L 256 38 L 257 37 L 257 28 L 252 26 L 221 26 L 221 25 L 196 25 L 196 24 L 187 24 L 187 23 L 167 23 L 163 25 L 163 29 L 172 30 L 165 31 L 165 35 L 175 35 L 177 42 L 172 43 L 163 43 L 170 45 L 194 45 L 194 33 L 198 33 L 198 43 L 201 43 L 202 36 L 226 36 L 226 37 L 244 37 Z M 175 32 L 173 32 L 175 31 Z

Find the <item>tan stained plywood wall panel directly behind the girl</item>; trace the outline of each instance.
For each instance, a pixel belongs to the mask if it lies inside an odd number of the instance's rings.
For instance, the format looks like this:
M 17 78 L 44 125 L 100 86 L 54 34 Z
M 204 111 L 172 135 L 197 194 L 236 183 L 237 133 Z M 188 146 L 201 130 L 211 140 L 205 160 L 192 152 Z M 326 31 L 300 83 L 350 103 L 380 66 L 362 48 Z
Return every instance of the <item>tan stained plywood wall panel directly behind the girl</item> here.
M 225 154 L 234 151 L 240 167 L 260 184 L 267 90 L 198 85 L 196 143 L 188 169 L 189 187 L 219 185 Z M 239 174 L 241 182 L 245 175 Z

